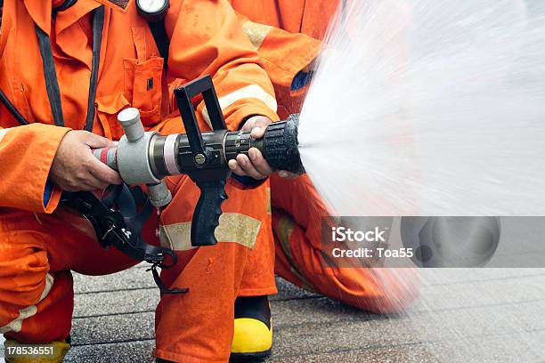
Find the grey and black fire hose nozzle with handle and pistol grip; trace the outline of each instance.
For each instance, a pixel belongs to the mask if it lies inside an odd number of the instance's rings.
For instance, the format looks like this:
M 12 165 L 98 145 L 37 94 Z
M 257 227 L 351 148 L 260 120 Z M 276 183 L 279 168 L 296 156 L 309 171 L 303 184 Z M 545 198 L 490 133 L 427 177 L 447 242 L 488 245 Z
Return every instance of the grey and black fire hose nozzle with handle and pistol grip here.
M 191 99 L 202 93 L 212 130 L 201 133 Z M 94 156 L 117 170 L 127 184 L 147 184 L 150 201 L 162 207 L 172 196 L 164 182 L 167 175 L 187 174 L 200 190 L 191 222 L 191 245 L 216 245 L 221 206 L 228 198 L 225 183 L 231 175 L 229 160 L 260 149 L 277 170 L 304 173 L 298 151 L 298 115 L 267 127 L 264 137 L 254 140 L 249 132 L 230 132 L 224 122 L 216 90 L 209 76 L 175 89 L 175 98 L 186 133 L 162 135 L 144 132 L 138 109 L 125 109 L 118 121 L 125 135 L 117 146 L 95 149 Z

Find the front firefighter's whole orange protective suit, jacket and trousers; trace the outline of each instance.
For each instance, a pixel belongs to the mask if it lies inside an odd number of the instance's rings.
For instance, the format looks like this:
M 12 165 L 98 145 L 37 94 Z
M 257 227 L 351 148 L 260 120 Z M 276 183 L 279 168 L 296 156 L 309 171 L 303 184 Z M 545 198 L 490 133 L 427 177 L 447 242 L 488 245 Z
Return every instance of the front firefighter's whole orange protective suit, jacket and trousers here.
M 80 218 L 57 208 L 61 190 L 44 206 L 45 184 L 65 133 L 85 124 L 91 73 L 92 15 L 105 4 L 94 133 L 118 139 L 116 115 L 141 110 L 147 129 L 183 132 L 179 117 L 167 117 L 163 60 L 134 2 L 78 0 L 52 21 L 49 1 L 4 2 L 0 34 L 0 88 L 30 125 L 18 125 L 0 108 L 0 332 L 22 343 L 67 337 L 73 304 L 69 270 L 106 274 L 135 262 L 114 249 L 103 251 Z M 126 4 L 124 11 L 112 8 Z M 226 123 L 237 129 L 252 115 L 276 118 L 273 86 L 240 23 L 225 0 L 171 2 L 170 77 L 183 81 L 211 74 Z M 124 13 L 125 12 L 125 13 Z M 35 27 L 51 38 L 66 127 L 52 125 Z M 207 128 L 203 105 L 198 113 Z M 160 216 L 161 242 L 178 250 L 180 263 L 164 270 L 183 295 L 163 296 L 156 319 L 159 358 L 184 362 L 226 361 L 230 354 L 233 303 L 237 295 L 274 294 L 273 236 L 268 185 L 242 190 L 228 185 L 229 199 L 217 246 L 190 248 L 188 231 L 198 198 L 187 177 L 170 178 L 174 200 Z M 54 213 L 53 213 L 54 212 Z M 52 214 L 53 213 L 53 214 Z M 148 239 L 158 221 L 150 221 Z

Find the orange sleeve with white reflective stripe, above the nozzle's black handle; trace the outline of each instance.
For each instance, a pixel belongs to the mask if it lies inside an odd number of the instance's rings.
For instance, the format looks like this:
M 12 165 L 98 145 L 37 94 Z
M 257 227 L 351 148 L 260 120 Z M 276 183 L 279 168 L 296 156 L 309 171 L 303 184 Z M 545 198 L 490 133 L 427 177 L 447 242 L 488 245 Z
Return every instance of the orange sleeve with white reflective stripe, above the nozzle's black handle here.
M 253 115 L 278 119 L 273 85 L 263 61 L 227 1 L 173 2 L 165 24 L 171 38 L 169 75 L 177 78 L 174 85 L 212 76 L 230 130 Z M 197 110 L 199 121 L 208 121 L 204 102 Z

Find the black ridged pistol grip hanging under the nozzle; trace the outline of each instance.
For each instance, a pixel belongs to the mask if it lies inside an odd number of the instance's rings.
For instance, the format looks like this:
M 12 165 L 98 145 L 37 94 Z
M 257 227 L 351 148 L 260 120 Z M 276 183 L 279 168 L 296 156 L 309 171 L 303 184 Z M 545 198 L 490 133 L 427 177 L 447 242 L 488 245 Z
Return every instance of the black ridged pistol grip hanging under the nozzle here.
M 200 197 L 191 222 L 191 246 L 214 246 L 222 203 L 227 199 L 225 181 L 199 181 L 197 186 Z

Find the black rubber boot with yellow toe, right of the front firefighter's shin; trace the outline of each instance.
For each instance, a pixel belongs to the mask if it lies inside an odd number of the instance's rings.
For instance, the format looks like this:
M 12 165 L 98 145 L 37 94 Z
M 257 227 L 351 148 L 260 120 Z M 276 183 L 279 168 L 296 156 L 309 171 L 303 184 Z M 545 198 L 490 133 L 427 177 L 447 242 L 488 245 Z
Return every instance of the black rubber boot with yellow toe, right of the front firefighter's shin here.
M 271 356 L 273 323 L 267 296 L 239 297 L 235 302 L 231 362 L 256 362 Z

